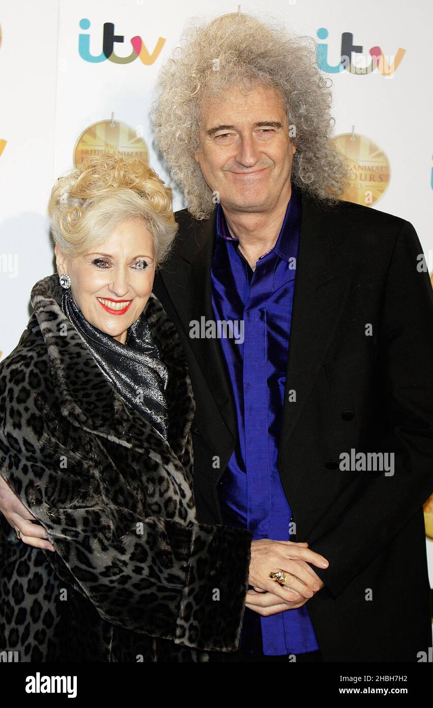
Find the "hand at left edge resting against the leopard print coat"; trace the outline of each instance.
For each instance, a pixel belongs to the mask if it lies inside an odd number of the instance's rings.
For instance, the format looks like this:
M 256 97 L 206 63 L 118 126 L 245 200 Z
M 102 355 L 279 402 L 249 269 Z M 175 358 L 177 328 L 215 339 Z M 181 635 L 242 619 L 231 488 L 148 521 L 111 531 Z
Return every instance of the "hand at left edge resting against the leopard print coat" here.
M 37 519 L 25 508 L 22 501 L 16 496 L 6 480 L 0 474 L 0 512 L 15 532 L 20 530 L 20 540 L 28 546 L 54 551 L 50 541 L 47 541 L 47 532 Z

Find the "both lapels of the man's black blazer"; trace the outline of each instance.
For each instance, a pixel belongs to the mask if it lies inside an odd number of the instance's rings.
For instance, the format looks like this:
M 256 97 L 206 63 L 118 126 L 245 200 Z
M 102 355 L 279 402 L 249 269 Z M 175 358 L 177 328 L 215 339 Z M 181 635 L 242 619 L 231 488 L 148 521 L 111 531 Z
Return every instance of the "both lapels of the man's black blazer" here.
M 341 210 L 337 212 L 341 218 Z M 206 321 L 214 319 L 211 265 L 216 216 L 216 209 L 204 223 L 191 222 L 187 216 L 185 224 L 180 217 L 180 228 L 185 229 L 177 251 L 180 260 L 175 261 L 175 269 L 161 269 L 161 278 L 187 336 L 192 320 L 200 322 L 202 316 Z M 337 255 L 339 229 L 342 224 L 333 219 L 333 211 L 303 191 L 279 455 L 299 421 L 349 292 L 352 278 Z M 236 438 L 231 384 L 219 341 L 190 338 L 190 345 L 221 417 Z M 296 392 L 296 401 L 290 400 L 291 391 Z

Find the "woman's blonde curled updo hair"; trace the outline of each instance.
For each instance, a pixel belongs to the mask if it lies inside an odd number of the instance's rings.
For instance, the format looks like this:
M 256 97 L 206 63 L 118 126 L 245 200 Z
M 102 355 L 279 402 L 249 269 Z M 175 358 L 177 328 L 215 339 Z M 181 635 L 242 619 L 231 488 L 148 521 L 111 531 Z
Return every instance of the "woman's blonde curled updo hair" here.
M 86 157 L 58 178 L 48 206 L 54 243 L 67 258 L 108 239 L 125 219 L 141 219 L 161 265 L 177 232 L 171 188 L 138 157 L 108 152 Z

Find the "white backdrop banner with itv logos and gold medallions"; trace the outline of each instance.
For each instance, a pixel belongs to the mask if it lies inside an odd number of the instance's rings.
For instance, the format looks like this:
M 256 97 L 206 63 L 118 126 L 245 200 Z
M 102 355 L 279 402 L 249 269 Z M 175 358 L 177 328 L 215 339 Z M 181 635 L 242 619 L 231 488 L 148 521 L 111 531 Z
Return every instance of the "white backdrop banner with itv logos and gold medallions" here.
M 25 329 L 31 287 L 54 272 L 47 221 L 54 181 L 86 154 L 108 149 L 149 160 L 171 184 L 149 122 L 158 69 L 186 22 L 236 11 L 238 4 L 221 0 L 0 1 L 1 358 Z M 427 0 L 262 0 L 241 11 L 316 40 L 318 65 L 333 81 L 334 139 L 352 161 L 347 198 L 364 199 L 369 190 L 371 208 L 412 222 L 432 273 Z M 175 209 L 183 206 L 175 191 Z M 429 538 L 427 551 L 433 586 Z

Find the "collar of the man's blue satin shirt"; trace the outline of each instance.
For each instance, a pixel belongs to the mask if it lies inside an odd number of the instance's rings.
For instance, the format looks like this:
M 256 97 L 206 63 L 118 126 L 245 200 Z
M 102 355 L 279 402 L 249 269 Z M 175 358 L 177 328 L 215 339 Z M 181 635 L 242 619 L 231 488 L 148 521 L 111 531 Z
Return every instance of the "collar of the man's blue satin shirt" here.
M 284 261 L 289 261 L 290 258 L 294 256 L 294 243 L 296 236 L 299 237 L 299 229 L 301 226 L 301 190 L 291 183 L 291 196 L 289 202 L 287 203 L 286 214 L 284 215 L 284 220 L 282 227 L 279 232 L 277 242 L 273 249 L 263 253 L 258 259 L 265 258 L 268 253 L 277 253 L 277 256 L 284 258 Z M 229 232 L 229 227 L 227 226 L 226 217 L 224 215 L 224 210 L 221 204 L 217 206 L 217 236 L 224 239 L 225 241 L 233 241 L 238 244 L 239 241 Z

